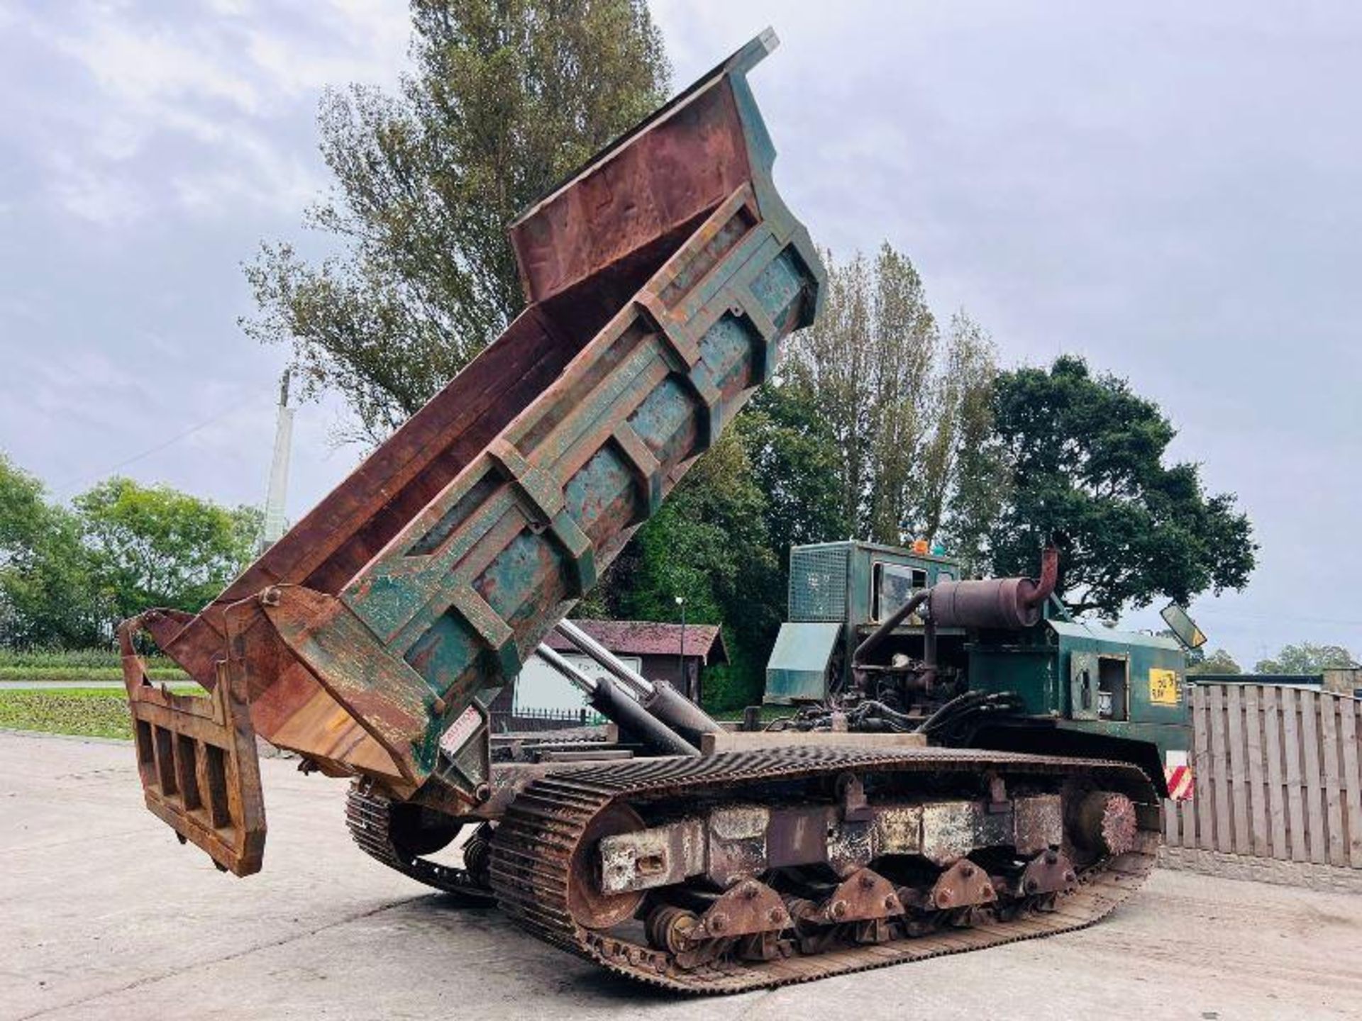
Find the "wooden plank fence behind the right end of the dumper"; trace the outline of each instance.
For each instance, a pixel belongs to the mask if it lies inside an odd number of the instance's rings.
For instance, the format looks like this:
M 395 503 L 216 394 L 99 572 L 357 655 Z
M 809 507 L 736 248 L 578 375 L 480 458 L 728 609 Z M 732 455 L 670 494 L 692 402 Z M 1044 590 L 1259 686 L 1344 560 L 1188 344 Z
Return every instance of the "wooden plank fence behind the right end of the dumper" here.
M 1362 869 L 1362 700 L 1189 685 L 1196 796 L 1167 802 L 1171 847 Z

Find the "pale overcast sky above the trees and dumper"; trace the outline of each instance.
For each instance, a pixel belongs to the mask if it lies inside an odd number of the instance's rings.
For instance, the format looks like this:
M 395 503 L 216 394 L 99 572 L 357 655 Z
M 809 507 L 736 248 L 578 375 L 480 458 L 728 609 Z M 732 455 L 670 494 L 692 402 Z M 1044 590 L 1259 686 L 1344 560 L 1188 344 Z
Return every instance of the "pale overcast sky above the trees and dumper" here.
M 892 8 L 892 11 L 891 11 Z M 889 241 L 1004 363 L 1077 351 L 1179 429 L 1263 543 L 1193 607 L 1250 666 L 1362 652 L 1362 8 L 659 0 L 677 87 L 765 25 L 778 182 L 836 252 Z M 308 238 L 327 84 L 392 86 L 398 0 L 0 0 L 0 449 L 260 502 L 285 362 L 240 264 Z M 355 463 L 297 417 L 289 515 Z M 1150 614 L 1128 622 L 1147 626 Z

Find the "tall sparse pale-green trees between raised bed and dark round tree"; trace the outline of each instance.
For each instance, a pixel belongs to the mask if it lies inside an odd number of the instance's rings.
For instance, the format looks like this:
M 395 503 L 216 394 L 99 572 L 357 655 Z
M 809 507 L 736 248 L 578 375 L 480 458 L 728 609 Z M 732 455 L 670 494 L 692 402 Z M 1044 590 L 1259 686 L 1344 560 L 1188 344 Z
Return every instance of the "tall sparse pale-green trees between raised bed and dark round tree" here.
M 888 244 L 873 261 L 827 261 L 824 312 L 791 340 L 782 372 L 827 422 L 850 531 L 933 539 L 970 490 L 964 453 L 987 432 L 993 346 L 964 313 L 943 339 L 921 276 Z

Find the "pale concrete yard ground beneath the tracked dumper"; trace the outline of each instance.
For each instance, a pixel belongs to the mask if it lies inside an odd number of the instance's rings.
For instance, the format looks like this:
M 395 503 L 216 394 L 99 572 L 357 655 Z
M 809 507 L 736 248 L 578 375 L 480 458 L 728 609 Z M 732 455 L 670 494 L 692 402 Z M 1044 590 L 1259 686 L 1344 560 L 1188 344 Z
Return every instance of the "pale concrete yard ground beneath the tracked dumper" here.
M 369 860 L 342 783 L 262 769 L 266 870 L 236 879 L 142 807 L 131 746 L 0 732 L 0 1017 L 1362 1017 L 1362 897 L 1174 871 L 1083 933 L 662 995 Z

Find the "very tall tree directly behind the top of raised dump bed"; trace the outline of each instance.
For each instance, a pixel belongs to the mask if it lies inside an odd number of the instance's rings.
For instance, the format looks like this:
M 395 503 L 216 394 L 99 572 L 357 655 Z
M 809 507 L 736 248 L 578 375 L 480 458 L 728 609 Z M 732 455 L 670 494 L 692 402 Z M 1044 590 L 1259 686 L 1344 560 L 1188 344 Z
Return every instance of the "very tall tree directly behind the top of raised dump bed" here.
M 305 393 L 339 392 L 377 441 L 520 310 L 507 225 L 667 91 L 644 0 L 413 0 L 396 95 L 321 101 L 335 188 L 306 222 L 342 255 L 266 244 L 247 332 L 289 343 Z

